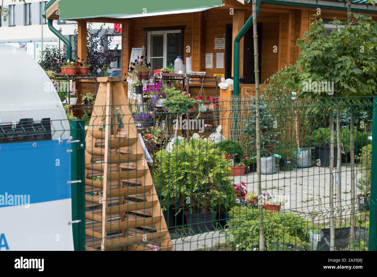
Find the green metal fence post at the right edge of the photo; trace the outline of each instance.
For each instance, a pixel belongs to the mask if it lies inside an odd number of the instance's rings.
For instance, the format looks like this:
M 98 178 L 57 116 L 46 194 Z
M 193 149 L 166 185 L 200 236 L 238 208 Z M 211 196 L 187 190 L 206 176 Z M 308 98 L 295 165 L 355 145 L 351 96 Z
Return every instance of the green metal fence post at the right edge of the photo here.
M 369 201 L 369 250 L 377 244 L 377 97 L 373 97 L 371 199 Z

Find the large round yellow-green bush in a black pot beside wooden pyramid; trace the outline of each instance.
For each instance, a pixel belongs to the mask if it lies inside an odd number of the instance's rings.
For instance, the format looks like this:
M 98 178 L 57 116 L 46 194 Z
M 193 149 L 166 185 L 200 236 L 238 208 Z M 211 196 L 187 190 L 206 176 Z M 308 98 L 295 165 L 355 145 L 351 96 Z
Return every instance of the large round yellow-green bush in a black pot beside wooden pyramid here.
M 231 170 L 213 143 L 181 140 L 172 152 L 158 151 L 155 157 L 153 182 L 161 205 L 178 203 L 180 209 L 200 214 L 233 206 Z

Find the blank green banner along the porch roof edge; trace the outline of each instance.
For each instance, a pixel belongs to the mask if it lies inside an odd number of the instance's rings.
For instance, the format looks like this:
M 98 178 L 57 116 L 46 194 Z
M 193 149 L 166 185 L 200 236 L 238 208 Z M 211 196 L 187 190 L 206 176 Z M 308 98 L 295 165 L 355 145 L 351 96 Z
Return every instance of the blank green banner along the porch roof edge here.
M 112 17 L 132 18 L 197 12 L 223 6 L 222 0 L 60 0 L 61 20 Z

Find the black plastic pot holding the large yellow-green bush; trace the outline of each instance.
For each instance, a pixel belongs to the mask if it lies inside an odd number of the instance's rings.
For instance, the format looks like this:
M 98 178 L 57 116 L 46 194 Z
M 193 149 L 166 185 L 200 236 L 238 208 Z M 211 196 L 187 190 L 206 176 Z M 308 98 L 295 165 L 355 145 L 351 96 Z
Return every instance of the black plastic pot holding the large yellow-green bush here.
M 187 214 L 185 212 L 187 225 L 195 234 L 215 230 L 216 221 L 218 221 L 217 215 L 218 211 L 209 212 L 207 214 Z

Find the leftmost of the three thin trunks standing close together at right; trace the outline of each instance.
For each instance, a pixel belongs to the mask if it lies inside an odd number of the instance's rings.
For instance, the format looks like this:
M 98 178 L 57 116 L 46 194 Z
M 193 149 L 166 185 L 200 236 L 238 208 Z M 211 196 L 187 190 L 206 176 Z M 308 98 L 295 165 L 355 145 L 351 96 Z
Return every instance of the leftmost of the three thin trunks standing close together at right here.
M 335 251 L 334 222 L 334 115 L 330 111 L 330 251 Z

